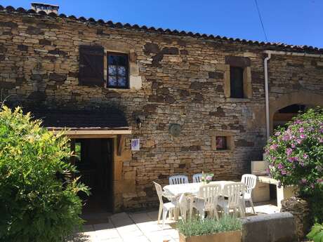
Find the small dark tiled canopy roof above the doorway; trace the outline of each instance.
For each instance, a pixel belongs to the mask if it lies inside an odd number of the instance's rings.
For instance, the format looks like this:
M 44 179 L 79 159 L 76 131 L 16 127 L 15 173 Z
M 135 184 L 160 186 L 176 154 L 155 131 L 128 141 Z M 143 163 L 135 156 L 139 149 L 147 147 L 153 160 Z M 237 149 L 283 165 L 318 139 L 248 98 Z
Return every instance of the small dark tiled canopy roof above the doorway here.
M 24 110 L 26 112 L 26 109 Z M 58 110 L 27 109 L 34 119 L 43 120 L 46 128 L 70 129 L 128 129 L 128 122 L 119 109 L 104 110 Z

